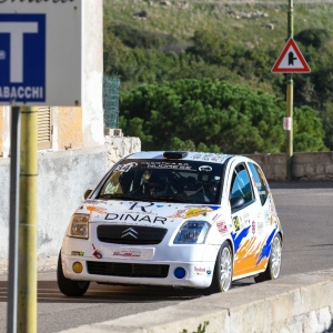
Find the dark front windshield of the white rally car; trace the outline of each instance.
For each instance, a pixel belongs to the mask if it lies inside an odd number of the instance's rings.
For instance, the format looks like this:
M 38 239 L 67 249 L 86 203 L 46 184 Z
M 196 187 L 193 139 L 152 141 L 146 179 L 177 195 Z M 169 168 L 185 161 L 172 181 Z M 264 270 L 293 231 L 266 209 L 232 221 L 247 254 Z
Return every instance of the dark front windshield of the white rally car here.
M 223 164 L 184 160 L 124 160 L 98 199 L 219 203 Z

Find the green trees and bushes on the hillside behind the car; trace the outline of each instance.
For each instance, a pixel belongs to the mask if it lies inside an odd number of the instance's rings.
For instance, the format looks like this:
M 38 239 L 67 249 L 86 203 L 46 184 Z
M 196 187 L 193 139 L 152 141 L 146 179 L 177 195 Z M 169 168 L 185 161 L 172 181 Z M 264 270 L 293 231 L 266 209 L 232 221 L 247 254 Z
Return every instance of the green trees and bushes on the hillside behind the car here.
M 311 73 L 293 75 L 294 150 L 333 150 L 333 43 L 323 29 L 296 39 Z M 124 132 L 143 149 L 285 151 L 286 80 L 271 73 L 283 41 L 246 47 L 202 29 L 175 52 L 176 42 L 104 20 L 104 73 L 121 80 Z

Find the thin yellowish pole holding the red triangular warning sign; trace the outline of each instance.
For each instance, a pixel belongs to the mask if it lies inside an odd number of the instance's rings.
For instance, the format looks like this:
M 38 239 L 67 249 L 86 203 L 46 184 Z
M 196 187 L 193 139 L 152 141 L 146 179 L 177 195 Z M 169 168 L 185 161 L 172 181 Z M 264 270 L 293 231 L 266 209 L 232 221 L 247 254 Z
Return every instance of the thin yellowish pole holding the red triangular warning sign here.
M 293 17 L 293 0 L 289 0 L 287 11 L 287 34 L 293 38 L 294 34 L 294 17 Z M 286 74 L 286 119 L 289 127 L 285 130 L 286 135 L 286 180 L 292 180 L 292 158 L 293 158 L 293 100 L 294 100 L 294 83 L 293 74 Z

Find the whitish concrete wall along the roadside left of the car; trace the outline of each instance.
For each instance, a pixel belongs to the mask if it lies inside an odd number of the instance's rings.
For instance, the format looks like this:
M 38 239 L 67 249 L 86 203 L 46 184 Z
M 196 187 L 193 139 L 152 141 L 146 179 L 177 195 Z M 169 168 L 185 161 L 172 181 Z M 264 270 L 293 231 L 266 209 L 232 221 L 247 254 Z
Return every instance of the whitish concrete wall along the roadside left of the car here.
M 39 152 L 38 161 L 38 256 L 54 256 L 61 246 L 69 220 L 115 161 L 140 151 L 138 138 L 107 137 L 94 149 Z M 8 258 L 10 159 L 0 159 L 0 258 Z

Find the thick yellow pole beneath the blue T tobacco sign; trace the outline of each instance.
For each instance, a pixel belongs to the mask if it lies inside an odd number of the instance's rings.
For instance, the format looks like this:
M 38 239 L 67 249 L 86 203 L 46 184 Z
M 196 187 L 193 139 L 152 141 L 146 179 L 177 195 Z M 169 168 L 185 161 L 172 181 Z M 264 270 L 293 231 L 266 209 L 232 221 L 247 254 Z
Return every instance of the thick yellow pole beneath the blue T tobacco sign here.
M 37 332 L 38 108 L 21 107 L 18 331 Z

